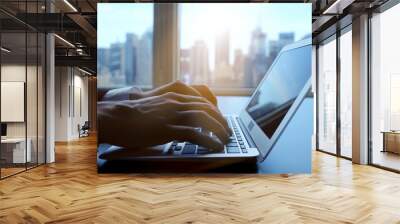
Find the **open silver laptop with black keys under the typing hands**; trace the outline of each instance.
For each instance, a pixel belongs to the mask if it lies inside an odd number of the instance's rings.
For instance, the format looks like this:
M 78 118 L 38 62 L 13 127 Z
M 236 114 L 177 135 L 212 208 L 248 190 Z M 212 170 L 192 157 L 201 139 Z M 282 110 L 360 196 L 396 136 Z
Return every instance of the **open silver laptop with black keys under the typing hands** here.
M 311 89 L 311 39 L 285 46 L 239 115 L 224 115 L 233 131 L 223 151 L 190 142 L 145 149 L 112 146 L 104 160 L 263 161 Z M 199 130 L 201 131 L 201 130 Z M 210 133 L 212 135 L 212 133 Z

